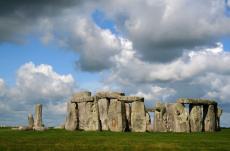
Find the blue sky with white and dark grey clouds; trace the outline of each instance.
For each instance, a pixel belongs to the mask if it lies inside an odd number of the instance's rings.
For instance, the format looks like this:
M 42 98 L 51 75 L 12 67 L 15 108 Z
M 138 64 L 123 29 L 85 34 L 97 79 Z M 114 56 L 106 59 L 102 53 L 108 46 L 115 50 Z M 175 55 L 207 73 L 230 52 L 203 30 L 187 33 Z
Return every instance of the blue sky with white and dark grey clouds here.
M 65 121 L 75 92 L 122 91 L 145 105 L 214 99 L 230 127 L 230 1 L 0 2 L 0 125 Z

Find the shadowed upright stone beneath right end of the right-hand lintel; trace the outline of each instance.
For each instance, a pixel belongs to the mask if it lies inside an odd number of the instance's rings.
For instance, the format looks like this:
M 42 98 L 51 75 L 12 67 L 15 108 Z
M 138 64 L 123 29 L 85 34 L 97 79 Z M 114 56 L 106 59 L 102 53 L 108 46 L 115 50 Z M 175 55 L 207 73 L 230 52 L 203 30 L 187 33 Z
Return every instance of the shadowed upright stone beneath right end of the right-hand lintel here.
M 214 132 L 216 130 L 216 114 L 214 105 L 204 106 L 204 131 Z

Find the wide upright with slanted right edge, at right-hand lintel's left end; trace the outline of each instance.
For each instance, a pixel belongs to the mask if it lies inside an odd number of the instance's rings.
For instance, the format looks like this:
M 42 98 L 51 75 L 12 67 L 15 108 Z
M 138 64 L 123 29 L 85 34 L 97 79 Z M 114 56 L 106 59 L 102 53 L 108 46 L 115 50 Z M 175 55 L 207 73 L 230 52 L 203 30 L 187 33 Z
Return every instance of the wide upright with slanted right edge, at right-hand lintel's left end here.
M 174 132 L 190 132 L 189 114 L 183 104 L 175 103 L 174 105 Z

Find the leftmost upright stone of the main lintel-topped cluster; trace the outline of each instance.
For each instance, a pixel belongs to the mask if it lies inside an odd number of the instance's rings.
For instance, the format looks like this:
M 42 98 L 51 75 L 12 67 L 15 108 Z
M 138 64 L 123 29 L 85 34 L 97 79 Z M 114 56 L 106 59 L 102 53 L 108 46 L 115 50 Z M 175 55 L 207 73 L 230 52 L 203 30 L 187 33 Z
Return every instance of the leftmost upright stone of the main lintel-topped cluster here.
M 65 129 L 69 131 L 74 131 L 77 129 L 77 126 L 78 126 L 77 104 L 68 102 Z

